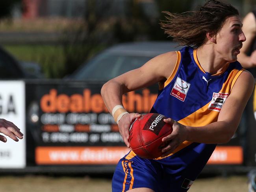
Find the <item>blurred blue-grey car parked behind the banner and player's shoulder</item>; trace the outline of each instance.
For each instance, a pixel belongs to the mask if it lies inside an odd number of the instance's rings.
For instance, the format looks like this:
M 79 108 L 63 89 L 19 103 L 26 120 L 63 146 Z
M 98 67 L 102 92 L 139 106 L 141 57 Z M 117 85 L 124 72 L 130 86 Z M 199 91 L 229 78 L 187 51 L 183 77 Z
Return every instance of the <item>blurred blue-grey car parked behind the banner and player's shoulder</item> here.
M 108 81 L 138 68 L 165 52 L 179 50 L 174 42 L 131 42 L 114 45 L 83 64 L 68 79 Z

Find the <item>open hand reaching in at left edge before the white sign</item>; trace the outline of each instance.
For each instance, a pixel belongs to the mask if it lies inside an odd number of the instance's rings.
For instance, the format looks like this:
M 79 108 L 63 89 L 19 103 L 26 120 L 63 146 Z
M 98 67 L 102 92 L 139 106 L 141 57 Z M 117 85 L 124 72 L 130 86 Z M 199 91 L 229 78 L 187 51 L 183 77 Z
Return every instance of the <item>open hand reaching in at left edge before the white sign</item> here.
M 0 133 L 3 133 L 15 141 L 19 141 L 19 139 L 23 138 L 23 133 L 20 132 L 20 129 L 15 126 L 15 124 L 5 119 L 0 119 Z M 0 135 L 0 141 L 6 142 L 7 139 L 3 135 Z

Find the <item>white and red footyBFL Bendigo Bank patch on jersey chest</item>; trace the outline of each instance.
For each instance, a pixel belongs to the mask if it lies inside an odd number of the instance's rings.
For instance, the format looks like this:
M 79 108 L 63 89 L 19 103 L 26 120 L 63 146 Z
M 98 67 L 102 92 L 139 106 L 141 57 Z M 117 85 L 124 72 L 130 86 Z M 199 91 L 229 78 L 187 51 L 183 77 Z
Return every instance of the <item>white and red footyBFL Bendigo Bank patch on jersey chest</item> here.
M 186 99 L 187 91 L 189 90 L 190 83 L 182 80 L 181 78 L 176 79 L 173 89 L 171 91 L 171 95 L 183 101 Z

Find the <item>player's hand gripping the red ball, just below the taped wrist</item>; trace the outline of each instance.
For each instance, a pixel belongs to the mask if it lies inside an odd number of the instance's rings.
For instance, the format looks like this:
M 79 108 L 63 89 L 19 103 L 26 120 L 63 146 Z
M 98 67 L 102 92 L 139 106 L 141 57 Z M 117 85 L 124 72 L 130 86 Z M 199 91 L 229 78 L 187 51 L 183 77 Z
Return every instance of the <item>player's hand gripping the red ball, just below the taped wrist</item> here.
M 141 114 L 139 113 L 128 113 L 128 114 L 124 114 L 122 118 L 119 120 L 119 122 L 117 122 L 117 125 L 119 127 L 119 132 L 122 136 L 122 139 L 124 140 L 124 143 L 128 148 L 130 148 L 130 143 L 129 143 L 130 126 L 135 121 L 135 119 L 140 117 L 141 117 Z

